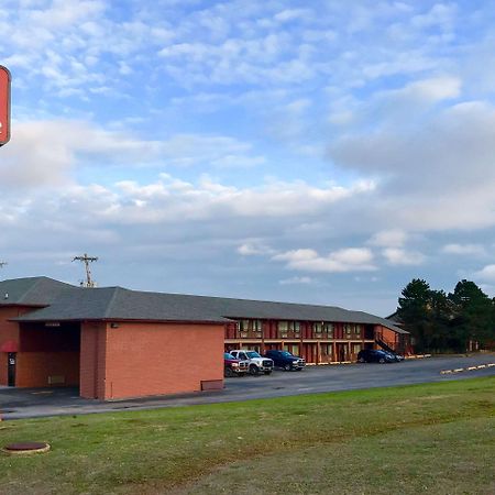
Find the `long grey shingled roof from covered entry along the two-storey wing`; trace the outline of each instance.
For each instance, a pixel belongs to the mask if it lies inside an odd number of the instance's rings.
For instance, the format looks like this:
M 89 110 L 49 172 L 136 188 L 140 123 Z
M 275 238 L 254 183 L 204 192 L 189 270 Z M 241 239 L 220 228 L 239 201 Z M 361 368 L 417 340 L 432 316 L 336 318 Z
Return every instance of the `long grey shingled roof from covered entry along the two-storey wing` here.
M 56 282 L 56 280 L 53 280 Z M 84 288 L 63 284 L 50 306 L 16 318 L 18 321 L 147 320 L 228 322 L 240 318 L 333 321 L 383 324 L 407 333 L 391 321 L 336 306 L 301 305 L 226 297 L 148 293 L 122 287 Z M 0 283 L 1 290 L 1 283 Z

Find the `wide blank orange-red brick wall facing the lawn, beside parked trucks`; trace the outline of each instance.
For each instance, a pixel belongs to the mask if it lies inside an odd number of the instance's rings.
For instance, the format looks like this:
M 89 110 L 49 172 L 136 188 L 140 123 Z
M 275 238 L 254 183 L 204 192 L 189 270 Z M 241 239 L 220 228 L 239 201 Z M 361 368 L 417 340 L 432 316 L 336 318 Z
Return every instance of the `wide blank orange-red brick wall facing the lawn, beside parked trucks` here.
M 119 323 L 106 330 L 105 395 L 140 397 L 223 381 L 222 324 Z

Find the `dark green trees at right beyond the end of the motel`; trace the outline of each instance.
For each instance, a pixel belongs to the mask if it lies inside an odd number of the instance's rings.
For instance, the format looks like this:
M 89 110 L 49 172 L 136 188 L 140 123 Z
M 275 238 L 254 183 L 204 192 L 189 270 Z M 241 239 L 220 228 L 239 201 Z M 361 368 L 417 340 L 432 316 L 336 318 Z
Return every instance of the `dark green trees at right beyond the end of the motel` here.
M 452 293 L 433 290 L 414 278 L 402 292 L 396 312 L 422 352 L 465 352 L 495 346 L 495 297 L 470 280 Z

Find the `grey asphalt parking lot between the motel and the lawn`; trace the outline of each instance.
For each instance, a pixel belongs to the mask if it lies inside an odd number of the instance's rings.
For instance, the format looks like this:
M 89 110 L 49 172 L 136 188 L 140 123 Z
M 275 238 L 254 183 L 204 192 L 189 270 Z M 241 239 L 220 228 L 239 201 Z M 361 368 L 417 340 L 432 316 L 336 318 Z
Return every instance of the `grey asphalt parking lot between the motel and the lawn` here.
M 301 372 L 275 371 L 272 375 L 226 380 L 226 388 L 176 396 L 147 397 L 107 402 L 78 397 L 76 388 L 25 389 L 0 387 L 0 411 L 3 419 L 58 415 L 82 415 L 117 410 L 152 409 L 226 402 L 271 398 L 322 392 L 338 392 L 410 385 L 428 382 L 495 376 L 495 366 L 442 374 L 495 363 L 494 354 L 475 356 L 425 358 L 391 364 L 342 364 L 307 366 Z

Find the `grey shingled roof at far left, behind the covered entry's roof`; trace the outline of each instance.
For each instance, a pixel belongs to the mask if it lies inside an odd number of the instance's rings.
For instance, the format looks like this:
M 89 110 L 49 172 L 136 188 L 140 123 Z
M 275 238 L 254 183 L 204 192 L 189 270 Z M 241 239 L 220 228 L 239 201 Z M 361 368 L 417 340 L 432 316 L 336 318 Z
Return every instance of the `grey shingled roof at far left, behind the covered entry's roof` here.
M 0 282 L 0 306 L 46 306 L 64 290 L 75 288 L 48 277 L 13 278 Z

